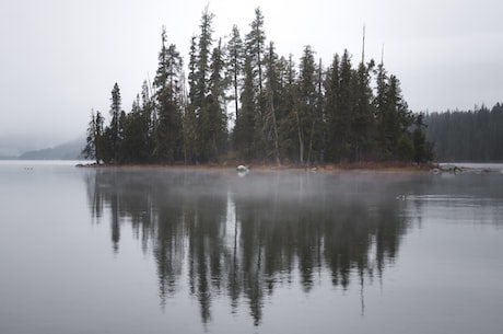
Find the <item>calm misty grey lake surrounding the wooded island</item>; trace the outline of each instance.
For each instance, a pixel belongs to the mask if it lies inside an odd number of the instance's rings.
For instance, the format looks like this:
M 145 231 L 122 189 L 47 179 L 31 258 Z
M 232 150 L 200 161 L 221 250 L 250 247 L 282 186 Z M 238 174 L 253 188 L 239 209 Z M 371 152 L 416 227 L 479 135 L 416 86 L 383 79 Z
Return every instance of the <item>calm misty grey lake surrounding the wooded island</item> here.
M 493 168 L 0 161 L 0 333 L 503 333 Z

